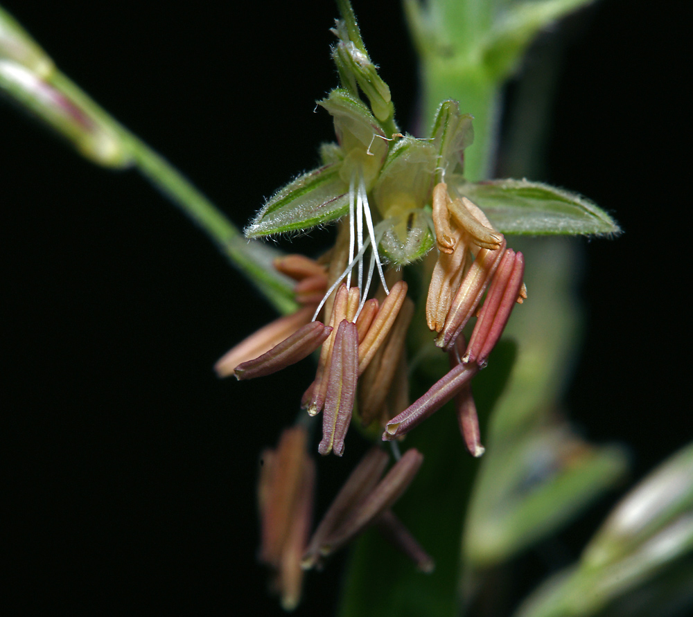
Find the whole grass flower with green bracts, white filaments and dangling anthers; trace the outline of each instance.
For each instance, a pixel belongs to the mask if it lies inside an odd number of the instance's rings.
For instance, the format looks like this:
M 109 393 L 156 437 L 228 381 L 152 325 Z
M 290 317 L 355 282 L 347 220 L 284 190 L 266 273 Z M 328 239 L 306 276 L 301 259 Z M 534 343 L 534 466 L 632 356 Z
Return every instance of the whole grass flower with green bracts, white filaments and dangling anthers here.
M 315 352 L 315 379 L 300 406 L 309 417 L 322 413 L 319 454 L 342 456 L 353 425 L 380 442 L 313 532 L 300 560 L 304 568 L 322 567 L 328 555 L 376 526 L 430 572 L 432 557 L 391 510 L 423 455 L 411 448 L 399 458 L 396 442 L 454 400 L 466 448 L 475 457 L 484 453 L 471 383 L 489 364 L 511 311 L 527 298 L 524 256 L 508 247 L 505 233 L 547 233 L 547 212 L 563 216 L 570 208 L 581 224 L 590 217 L 599 224 L 610 220 L 586 200 L 545 185 L 467 181 L 464 151 L 473 141 L 472 118 L 453 100 L 441 103 L 428 136 L 403 134 L 353 12 L 348 3 L 340 7 L 344 19 L 333 30 L 333 59 L 341 83 L 317 103 L 332 116 L 336 141 L 323 144 L 321 165 L 277 191 L 245 229 L 247 238 L 264 238 L 335 222 L 335 243 L 317 258 L 275 260 L 274 269 L 295 281 L 299 309 L 239 343 L 216 370 L 238 379 L 261 377 Z M 407 346 L 421 344 L 424 328 L 432 353 L 448 356 L 449 370 L 410 402 Z M 299 420 L 309 421 L 306 415 Z M 396 459 L 385 476 L 383 442 L 391 442 Z M 277 477 L 263 475 L 261 493 L 267 496 L 261 501 L 281 504 L 290 521 L 294 502 L 279 484 L 297 481 L 288 470 Z M 263 529 L 288 538 L 289 523 L 268 523 L 267 508 L 261 508 Z M 281 578 L 277 549 L 266 548 L 276 543 L 265 535 L 263 561 Z M 299 580 L 297 553 L 290 554 L 291 580 Z M 278 588 L 297 597 L 295 583 Z

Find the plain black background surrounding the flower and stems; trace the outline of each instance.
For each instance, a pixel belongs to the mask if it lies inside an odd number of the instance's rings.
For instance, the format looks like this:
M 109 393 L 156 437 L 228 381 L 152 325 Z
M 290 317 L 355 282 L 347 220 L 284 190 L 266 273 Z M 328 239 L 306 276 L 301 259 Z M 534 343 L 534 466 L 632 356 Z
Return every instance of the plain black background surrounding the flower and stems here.
M 336 82 L 330 2 L 3 6 L 240 226 L 331 138 L 313 114 Z M 591 440 L 631 445 L 634 479 L 692 433 L 681 8 L 606 0 L 571 20 L 539 178 L 625 231 L 581 241 L 587 337 L 565 406 Z M 356 12 L 405 123 L 416 69 L 398 3 Z M 216 379 L 213 362 L 272 311 L 137 173 L 91 166 L 3 101 L 0 127 L 11 601 L 279 613 L 255 561 L 256 461 L 292 422 L 310 368 Z M 344 470 L 321 465 L 323 501 Z M 563 534 L 571 558 L 609 503 Z M 339 562 L 310 577 L 298 614 L 333 613 Z

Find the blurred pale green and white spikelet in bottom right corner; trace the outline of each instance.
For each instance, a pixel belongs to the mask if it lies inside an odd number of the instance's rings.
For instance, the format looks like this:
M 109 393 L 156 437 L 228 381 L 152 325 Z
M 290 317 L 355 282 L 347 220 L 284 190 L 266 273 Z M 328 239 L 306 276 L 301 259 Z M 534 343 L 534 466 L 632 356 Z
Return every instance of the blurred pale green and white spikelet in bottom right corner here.
M 627 495 L 606 519 L 577 566 L 542 584 L 525 600 L 517 617 L 598 614 L 613 600 L 690 555 L 692 470 L 693 444 L 665 461 Z M 683 595 L 682 602 L 685 600 Z

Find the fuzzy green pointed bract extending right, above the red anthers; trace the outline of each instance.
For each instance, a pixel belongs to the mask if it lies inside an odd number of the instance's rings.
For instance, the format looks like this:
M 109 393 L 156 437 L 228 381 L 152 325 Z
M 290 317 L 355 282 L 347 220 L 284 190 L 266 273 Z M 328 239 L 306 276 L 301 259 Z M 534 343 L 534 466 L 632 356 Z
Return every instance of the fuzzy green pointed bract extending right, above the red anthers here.
M 458 190 L 502 233 L 610 235 L 621 231 L 589 199 L 547 184 L 507 179 L 463 184 Z

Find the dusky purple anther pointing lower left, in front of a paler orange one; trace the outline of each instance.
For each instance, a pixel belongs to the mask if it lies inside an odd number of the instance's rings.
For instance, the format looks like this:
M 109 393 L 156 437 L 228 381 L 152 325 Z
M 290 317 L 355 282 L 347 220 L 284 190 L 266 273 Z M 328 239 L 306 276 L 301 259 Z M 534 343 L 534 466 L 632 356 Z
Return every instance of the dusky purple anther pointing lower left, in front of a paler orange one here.
M 236 366 L 236 379 L 254 379 L 277 373 L 313 353 L 332 332 L 329 325 L 311 321 L 263 355 Z

